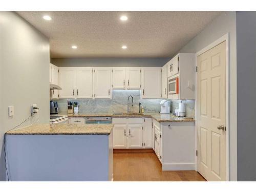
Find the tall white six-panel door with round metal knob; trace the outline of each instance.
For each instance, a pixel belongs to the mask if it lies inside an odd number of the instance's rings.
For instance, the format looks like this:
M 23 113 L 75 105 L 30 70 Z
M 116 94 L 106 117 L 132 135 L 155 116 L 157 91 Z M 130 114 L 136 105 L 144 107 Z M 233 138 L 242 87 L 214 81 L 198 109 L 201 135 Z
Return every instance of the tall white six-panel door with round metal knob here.
M 225 48 L 222 42 L 197 57 L 198 170 L 207 181 L 226 180 Z

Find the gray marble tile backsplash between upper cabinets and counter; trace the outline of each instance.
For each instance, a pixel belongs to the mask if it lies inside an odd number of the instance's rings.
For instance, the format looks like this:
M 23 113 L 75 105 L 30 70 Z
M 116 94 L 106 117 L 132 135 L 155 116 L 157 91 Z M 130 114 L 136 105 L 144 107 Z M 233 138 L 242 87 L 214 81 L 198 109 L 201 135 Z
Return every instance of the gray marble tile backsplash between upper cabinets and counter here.
M 139 102 L 144 106 L 145 112 L 160 112 L 160 101 L 163 99 L 140 99 L 140 90 L 113 90 L 112 99 L 59 99 L 59 113 L 68 112 L 67 101 L 79 103 L 79 113 L 126 113 L 127 98 L 133 96 L 131 110 L 138 113 Z M 171 111 L 179 108 L 180 100 L 170 100 Z M 131 100 L 130 100 L 131 102 Z M 186 100 L 186 116 L 195 117 L 195 100 Z

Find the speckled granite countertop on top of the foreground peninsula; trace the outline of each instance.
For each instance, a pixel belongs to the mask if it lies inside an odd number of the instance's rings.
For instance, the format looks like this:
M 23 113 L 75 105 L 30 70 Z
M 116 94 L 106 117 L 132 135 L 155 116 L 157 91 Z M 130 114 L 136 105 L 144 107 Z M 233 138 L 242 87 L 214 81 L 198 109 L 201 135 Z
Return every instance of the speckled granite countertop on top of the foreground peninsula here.
M 114 124 L 32 124 L 6 135 L 110 135 Z

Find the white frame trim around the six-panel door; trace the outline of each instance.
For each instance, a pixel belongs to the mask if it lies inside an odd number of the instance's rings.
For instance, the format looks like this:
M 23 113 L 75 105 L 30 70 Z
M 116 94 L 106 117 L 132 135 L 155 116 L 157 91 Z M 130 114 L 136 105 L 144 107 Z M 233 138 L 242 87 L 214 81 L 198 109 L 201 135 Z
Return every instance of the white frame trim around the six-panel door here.
M 196 66 L 197 66 L 197 57 L 204 52 L 216 47 L 222 42 L 226 41 L 226 181 L 229 181 L 229 33 L 226 33 L 219 39 L 215 40 L 208 46 L 204 47 L 196 53 Z M 195 146 L 197 150 L 198 137 L 197 137 L 197 73 L 196 73 L 196 101 L 195 101 Z M 198 161 L 195 155 L 195 169 L 198 171 Z

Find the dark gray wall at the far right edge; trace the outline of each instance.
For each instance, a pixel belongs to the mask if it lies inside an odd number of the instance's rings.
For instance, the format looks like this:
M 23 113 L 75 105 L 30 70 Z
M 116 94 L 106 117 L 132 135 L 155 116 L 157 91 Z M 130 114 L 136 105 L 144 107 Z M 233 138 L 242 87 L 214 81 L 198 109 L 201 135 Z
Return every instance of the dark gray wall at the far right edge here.
M 256 12 L 237 12 L 238 180 L 256 181 Z

